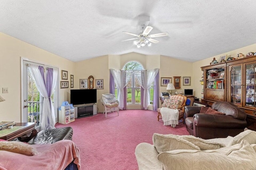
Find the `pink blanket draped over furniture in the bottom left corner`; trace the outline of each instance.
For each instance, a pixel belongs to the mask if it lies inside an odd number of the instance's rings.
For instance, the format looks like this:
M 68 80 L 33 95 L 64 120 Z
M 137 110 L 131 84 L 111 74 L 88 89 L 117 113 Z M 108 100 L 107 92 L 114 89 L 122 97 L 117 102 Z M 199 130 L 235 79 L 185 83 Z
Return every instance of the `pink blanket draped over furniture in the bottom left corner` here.
M 39 153 L 27 156 L 0 150 L 0 170 L 64 170 L 73 160 L 80 170 L 79 149 L 73 141 L 30 146 Z

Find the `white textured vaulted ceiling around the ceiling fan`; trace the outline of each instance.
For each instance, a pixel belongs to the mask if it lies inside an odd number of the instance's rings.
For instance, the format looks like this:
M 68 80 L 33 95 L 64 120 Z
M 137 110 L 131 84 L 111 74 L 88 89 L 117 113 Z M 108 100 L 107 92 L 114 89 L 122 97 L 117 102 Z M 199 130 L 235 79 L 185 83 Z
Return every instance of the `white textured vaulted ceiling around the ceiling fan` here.
M 130 52 L 194 62 L 256 43 L 255 11 L 255 0 L 0 0 L 0 32 L 75 62 Z M 140 15 L 150 34 L 169 35 L 121 42 Z

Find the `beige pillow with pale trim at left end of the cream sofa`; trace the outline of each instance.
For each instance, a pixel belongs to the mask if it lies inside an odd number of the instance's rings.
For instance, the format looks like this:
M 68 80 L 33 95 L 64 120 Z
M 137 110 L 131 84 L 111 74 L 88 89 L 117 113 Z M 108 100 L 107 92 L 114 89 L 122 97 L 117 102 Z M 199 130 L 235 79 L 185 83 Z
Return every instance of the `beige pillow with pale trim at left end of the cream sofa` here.
M 154 133 L 152 140 L 158 153 L 176 149 L 200 150 L 199 147 L 185 139 L 182 139 L 178 135 L 162 135 Z

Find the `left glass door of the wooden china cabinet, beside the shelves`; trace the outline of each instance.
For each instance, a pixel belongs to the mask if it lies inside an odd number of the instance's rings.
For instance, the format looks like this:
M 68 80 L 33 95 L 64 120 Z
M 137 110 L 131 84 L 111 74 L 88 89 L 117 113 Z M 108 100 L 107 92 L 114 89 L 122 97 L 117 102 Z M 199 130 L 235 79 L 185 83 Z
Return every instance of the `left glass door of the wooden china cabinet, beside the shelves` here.
M 231 102 L 241 105 L 242 72 L 241 66 L 232 66 L 230 71 L 230 95 Z

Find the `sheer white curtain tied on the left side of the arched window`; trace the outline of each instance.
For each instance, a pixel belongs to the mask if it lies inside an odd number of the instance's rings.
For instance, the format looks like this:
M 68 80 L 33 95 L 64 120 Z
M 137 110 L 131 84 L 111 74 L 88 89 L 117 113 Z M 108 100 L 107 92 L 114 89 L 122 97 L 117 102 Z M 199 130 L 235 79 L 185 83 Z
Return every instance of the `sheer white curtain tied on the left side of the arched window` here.
M 117 88 L 119 89 L 117 100 L 119 101 L 119 109 L 122 110 L 124 108 L 124 87 L 127 85 L 132 74 L 129 72 L 126 74 L 125 70 L 110 69 L 110 72 L 114 77 Z

